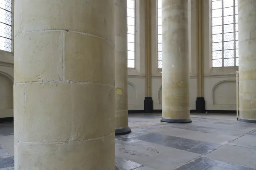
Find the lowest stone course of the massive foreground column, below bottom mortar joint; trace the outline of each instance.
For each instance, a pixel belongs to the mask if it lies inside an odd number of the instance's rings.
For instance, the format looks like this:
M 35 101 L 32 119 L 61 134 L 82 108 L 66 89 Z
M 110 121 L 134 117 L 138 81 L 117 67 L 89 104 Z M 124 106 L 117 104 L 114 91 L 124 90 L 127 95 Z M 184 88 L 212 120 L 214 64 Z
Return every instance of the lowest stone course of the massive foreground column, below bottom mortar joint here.
M 50 144 L 15 141 L 15 156 L 22 155 L 15 158 L 15 170 L 114 170 L 113 150 L 114 134 Z

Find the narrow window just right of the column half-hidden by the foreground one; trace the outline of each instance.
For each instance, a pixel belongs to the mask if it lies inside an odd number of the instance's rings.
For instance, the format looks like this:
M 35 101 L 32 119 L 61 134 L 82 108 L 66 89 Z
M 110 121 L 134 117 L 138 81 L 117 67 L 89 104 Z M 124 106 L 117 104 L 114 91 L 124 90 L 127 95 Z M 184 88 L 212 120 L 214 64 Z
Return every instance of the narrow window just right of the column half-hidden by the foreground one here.
M 134 0 L 127 0 L 127 45 L 128 45 L 128 67 L 135 68 L 135 8 Z

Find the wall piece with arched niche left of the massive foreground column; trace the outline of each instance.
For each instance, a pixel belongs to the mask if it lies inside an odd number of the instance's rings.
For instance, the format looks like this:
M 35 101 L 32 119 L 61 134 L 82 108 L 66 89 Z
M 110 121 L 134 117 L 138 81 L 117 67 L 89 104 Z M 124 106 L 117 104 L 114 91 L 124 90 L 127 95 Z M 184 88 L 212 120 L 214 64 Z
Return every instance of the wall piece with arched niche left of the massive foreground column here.
M 0 118 L 13 117 L 13 54 L 0 50 Z

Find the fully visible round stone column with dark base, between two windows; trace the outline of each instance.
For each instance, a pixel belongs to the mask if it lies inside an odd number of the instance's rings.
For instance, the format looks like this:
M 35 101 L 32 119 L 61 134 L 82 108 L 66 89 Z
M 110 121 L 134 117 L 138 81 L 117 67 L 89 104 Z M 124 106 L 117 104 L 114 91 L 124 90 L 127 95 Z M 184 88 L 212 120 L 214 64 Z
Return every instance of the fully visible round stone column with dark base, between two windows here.
M 190 123 L 188 0 L 162 0 L 163 118 Z

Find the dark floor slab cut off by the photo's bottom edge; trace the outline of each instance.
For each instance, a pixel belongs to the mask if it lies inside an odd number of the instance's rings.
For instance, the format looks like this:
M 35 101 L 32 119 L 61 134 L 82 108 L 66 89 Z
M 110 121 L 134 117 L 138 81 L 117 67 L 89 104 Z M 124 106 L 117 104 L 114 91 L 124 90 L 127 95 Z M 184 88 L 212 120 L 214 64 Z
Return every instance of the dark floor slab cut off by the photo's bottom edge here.
M 224 161 L 218 161 L 209 158 L 198 158 L 189 162 L 176 170 L 255 170 L 241 165 L 230 164 Z

